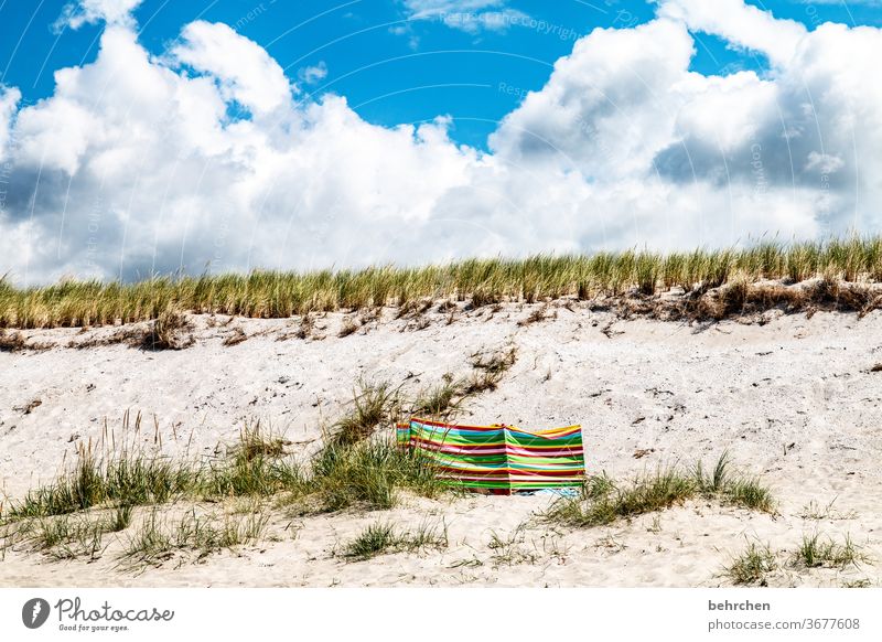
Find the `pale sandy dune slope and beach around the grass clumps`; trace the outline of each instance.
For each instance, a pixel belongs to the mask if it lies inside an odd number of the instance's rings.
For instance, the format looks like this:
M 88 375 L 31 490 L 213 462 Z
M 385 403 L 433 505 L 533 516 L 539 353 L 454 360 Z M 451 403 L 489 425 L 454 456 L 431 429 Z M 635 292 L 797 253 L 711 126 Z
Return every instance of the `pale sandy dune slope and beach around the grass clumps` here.
M 44 352 L 0 353 L 0 478 L 21 496 L 53 477 L 78 442 L 99 439 L 105 419 L 117 429 L 127 408 L 157 416 L 166 451 L 212 452 L 260 418 L 283 430 L 292 448 L 314 447 L 364 376 L 405 389 L 466 374 L 469 356 L 516 345 L 518 361 L 499 388 L 470 403 L 466 419 L 525 427 L 582 424 L 590 471 L 631 475 L 659 463 L 733 459 L 763 473 L 779 501 L 772 517 L 706 502 L 610 528 L 551 528 L 530 516 L 546 497 L 483 497 L 434 502 L 407 499 L 388 513 L 295 518 L 276 514 L 279 542 L 171 560 L 141 575 L 115 568 L 119 544 L 98 561 L 54 563 L 8 553 L 1 586 L 717 586 L 720 570 L 746 541 L 767 543 L 785 561 L 803 534 L 850 533 L 875 565 L 845 570 L 784 568 L 773 585 L 839 586 L 882 575 L 882 313 L 771 314 L 765 324 L 717 325 L 616 321 L 584 308 L 552 306 L 551 317 L 519 325 L 534 310 L 507 306 L 420 320 L 391 310 L 338 338 L 341 314 L 319 320 L 322 340 L 291 335 L 295 320 L 195 318 L 197 342 L 180 352 L 126 345 L 67 347 L 114 329 L 29 333 L 57 344 Z M 491 318 L 492 315 L 492 318 Z M 224 321 L 225 319 L 219 319 Z M 612 323 L 612 325 L 610 325 Z M 240 327 L 248 340 L 224 346 Z M 283 340 L 279 340 L 283 339 Z M 40 400 L 34 406 L 33 402 Z M 28 407 L 32 409 L 28 411 Z M 637 460 L 637 450 L 649 454 Z M 822 520 L 804 506 L 836 500 Z M 445 524 L 442 552 L 396 554 L 346 563 L 342 542 L 377 520 L 402 527 Z M 516 532 L 519 525 L 523 528 Z M 515 534 L 513 536 L 513 533 Z M 507 549 L 488 547 L 494 534 Z

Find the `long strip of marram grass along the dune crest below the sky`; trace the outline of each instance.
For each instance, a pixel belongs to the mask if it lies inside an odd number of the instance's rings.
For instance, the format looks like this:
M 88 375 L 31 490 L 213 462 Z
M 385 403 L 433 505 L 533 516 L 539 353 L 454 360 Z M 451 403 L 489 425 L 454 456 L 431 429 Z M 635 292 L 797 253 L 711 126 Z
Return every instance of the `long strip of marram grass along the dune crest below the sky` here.
M 811 243 L 760 243 L 743 249 L 656 254 L 600 253 L 470 259 L 443 266 L 363 270 L 157 277 L 121 283 L 63 281 L 17 288 L 0 279 L 0 328 L 105 325 L 158 319 L 169 310 L 284 318 L 309 312 L 412 306 L 426 298 L 475 304 L 547 298 L 643 295 L 732 280 L 815 277 L 882 281 L 882 236 Z

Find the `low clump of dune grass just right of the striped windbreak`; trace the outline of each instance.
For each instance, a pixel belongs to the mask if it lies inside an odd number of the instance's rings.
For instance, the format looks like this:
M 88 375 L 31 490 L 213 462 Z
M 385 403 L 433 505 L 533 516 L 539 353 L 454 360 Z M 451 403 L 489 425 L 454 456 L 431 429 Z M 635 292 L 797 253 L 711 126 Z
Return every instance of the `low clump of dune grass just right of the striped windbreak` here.
M 605 473 L 591 477 L 580 496 L 561 497 L 544 516 L 572 527 L 603 526 L 697 497 L 774 512 L 771 491 L 757 478 L 733 472 L 729 454 L 724 452 L 710 474 L 698 464 L 691 470 L 674 466 L 659 468 L 654 473 L 624 483 L 610 479 Z

